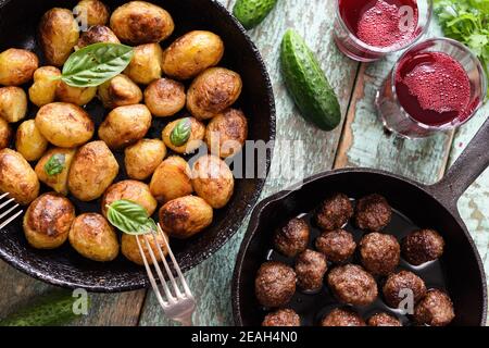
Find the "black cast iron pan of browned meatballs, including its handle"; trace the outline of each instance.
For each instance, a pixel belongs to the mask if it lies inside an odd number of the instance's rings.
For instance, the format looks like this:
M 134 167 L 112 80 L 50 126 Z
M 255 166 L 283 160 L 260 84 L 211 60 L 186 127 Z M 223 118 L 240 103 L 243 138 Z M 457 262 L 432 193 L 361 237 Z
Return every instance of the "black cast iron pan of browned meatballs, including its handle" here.
M 259 203 L 235 268 L 236 324 L 486 325 L 484 266 L 456 203 L 489 164 L 488 140 L 489 121 L 432 186 L 347 169 Z

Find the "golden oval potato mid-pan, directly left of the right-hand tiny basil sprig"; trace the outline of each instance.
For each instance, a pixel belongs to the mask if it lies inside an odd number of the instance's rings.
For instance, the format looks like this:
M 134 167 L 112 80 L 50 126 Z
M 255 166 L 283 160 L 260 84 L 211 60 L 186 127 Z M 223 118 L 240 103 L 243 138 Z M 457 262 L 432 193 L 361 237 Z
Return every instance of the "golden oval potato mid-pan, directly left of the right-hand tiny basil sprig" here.
M 151 112 L 146 105 L 118 107 L 99 128 L 99 137 L 111 149 L 121 149 L 142 139 L 151 127 Z

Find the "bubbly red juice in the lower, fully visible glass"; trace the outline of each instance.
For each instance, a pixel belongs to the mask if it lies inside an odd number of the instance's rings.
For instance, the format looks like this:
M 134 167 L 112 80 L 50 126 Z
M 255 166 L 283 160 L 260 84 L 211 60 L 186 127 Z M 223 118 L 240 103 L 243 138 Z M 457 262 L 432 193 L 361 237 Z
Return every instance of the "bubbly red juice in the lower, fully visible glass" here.
M 441 52 L 404 57 L 396 71 L 396 92 L 402 108 L 429 126 L 463 122 L 479 102 L 471 103 L 471 82 L 463 66 Z

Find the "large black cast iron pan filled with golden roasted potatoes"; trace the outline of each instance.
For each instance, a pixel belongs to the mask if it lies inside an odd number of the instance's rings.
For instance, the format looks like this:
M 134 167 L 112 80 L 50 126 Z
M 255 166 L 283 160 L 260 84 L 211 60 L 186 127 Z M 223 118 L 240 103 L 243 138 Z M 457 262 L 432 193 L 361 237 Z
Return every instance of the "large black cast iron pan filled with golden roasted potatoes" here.
M 65 287 L 146 287 L 135 237 L 108 222 L 121 200 L 161 223 L 184 271 L 224 245 L 266 176 L 235 178 L 224 161 L 275 137 L 269 79 L 237 21 L 213 0 L 0 1 L 0 191 L 26 212 L 2 231 L 0 257 Z M 134 48 L 122 74 L 57 79 L 97 42 Z M 204 144 L 216 156 L 189 162 Z

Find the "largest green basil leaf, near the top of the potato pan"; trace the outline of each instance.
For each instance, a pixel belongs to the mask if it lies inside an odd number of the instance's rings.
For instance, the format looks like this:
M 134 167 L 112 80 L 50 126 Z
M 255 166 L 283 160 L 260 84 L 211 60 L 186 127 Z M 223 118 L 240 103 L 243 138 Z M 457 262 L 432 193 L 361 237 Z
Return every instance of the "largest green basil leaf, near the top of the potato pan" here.
M 61 79 L 73 87 L 97 87 L 121 74 L 134 55 L 134 49 L 121 44 L 99 42 L 70 55 Z

